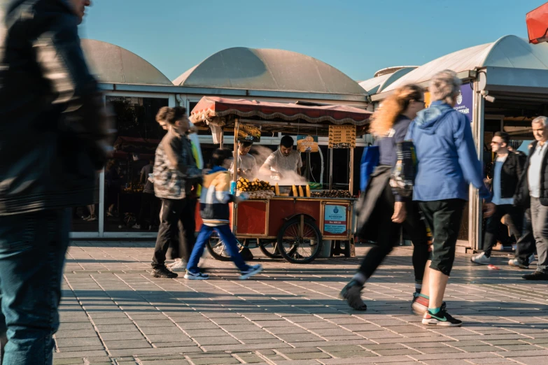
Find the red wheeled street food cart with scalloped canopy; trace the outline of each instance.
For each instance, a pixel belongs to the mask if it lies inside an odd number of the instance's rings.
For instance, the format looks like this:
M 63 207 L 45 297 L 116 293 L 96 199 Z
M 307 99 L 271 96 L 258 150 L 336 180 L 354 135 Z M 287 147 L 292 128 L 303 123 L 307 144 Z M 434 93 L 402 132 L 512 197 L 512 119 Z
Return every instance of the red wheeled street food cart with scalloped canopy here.
M 372 113 L 350 106 L 325 106 L 311 103 L 263 103 L 243 99 L 204 96 L 191 112 L 198 128 L 209 128 L 213 140 L 223 145 L 224 131 L 234 132 L 234 155 L 237 141 L 251 140 L 242 133 L 255 126 L 260 133 L 329 136 L 329 189 L 310 189 L 311 185 L 277 185 L 275 180 L 242 180 L 234 174 L 237 187 L 251 192 L 251 199 L 232 204 L 232 231 L 242 247 L 260 248 L 268 257 L 283 258 L 295 264 L 312 262 L 322 246 L 331 241 L 344 243 L 345 255 L 353 247 L 353 148 L 356 136 L 365 134 Z M 305 138 L 310 143 L 311 138 Z M 348 191 L 332 190 L 332 148 L 350 148 Z M 238 169 L 234 159 L 234 171 Z M 277 186 L 276 186 L 277 185 Z M 201 224 L 197 216 L 197 227 Z M 216 259 L 229 259 L 218 238 L 211 238 L 209 252 Z

